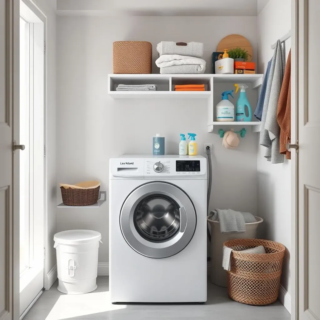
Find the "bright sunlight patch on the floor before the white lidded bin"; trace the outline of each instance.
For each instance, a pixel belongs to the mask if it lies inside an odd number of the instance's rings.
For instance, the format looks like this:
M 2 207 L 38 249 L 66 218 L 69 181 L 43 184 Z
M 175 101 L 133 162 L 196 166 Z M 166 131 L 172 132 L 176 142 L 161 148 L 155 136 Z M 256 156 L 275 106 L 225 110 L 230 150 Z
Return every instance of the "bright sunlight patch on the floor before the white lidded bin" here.
M 124 308 L 126 308 L 125 305 L 113 305 L 110 302 L 108 291 L 62 294 L 45 320 L 61 320 Z

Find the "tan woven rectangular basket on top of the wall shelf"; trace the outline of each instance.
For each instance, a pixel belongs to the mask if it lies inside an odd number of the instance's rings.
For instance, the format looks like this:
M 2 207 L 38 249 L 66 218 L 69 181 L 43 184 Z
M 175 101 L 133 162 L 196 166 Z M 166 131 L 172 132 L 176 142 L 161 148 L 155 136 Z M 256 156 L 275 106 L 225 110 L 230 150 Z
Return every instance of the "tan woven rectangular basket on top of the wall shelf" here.
M 152 44 L 148 41 L 113 43 L 113 73 L 151 73 Z

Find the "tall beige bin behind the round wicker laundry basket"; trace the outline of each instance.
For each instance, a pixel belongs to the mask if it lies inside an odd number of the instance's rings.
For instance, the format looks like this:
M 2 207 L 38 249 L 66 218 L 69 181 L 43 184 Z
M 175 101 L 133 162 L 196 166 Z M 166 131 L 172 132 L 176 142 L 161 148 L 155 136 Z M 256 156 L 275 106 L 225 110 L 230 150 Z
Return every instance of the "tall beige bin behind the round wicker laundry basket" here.
M 256 217 L 256 222 L 246 223 L 245 232 L 221 233 L 220 222 L 207 218 L 211 226 L 211 259 L 210 259 L 210 281 L 220 287 L 227 287 L 227 271 L 222 268 L 223 243 L 232 239 L 256 239 L 257 228 L 263 219 Z

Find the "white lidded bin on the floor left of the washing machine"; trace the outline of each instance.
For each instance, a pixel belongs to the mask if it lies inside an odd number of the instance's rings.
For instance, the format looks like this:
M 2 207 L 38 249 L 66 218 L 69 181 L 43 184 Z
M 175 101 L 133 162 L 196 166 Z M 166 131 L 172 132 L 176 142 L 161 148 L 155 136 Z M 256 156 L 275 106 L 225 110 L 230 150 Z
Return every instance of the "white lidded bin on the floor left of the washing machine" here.
M 67 230 L 54 235 L 57 252 L 58 290 L 81 294 L 97 289 L 100 232 Z

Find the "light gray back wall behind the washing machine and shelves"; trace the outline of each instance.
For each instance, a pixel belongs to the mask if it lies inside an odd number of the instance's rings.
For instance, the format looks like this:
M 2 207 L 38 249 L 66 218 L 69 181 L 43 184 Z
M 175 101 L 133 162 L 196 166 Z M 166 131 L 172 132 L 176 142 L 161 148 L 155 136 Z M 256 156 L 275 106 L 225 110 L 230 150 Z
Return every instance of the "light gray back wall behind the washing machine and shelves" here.
M 256 17 L 58 17 L 57 182 L 94 178 L 102 182 L 101 190 L 108 191 L 111 157 L 150 154 L 157 132 L 165 135 L 166 153 L 177 154 L 179 134 L 195 132 L 200 154 L 203 143 L 214 146 L 210 208 L 257 214 L 256 133 L 240 138 L 238 149 L 227 150 L 218 134 L 206 132 L 205 100 L 113 100 L 107 94 L 114 41 L 150 41 L 153 61 L 161 40 L 204 42 L 206 73 L 211 73 L 211 53 L 232 33 L 251 41 L 256 60 L 256 25 Z M 153 63 L 153 73 L 158 70 Z M 232 87 L 217 87 L 215 94 Z M 257 92 L 250 95 L 256 102 Z M 57 231 L 75 228 L 101 232 L 99 261 L 107 262 L 108 202 L 97 210 L 57 209 Z

